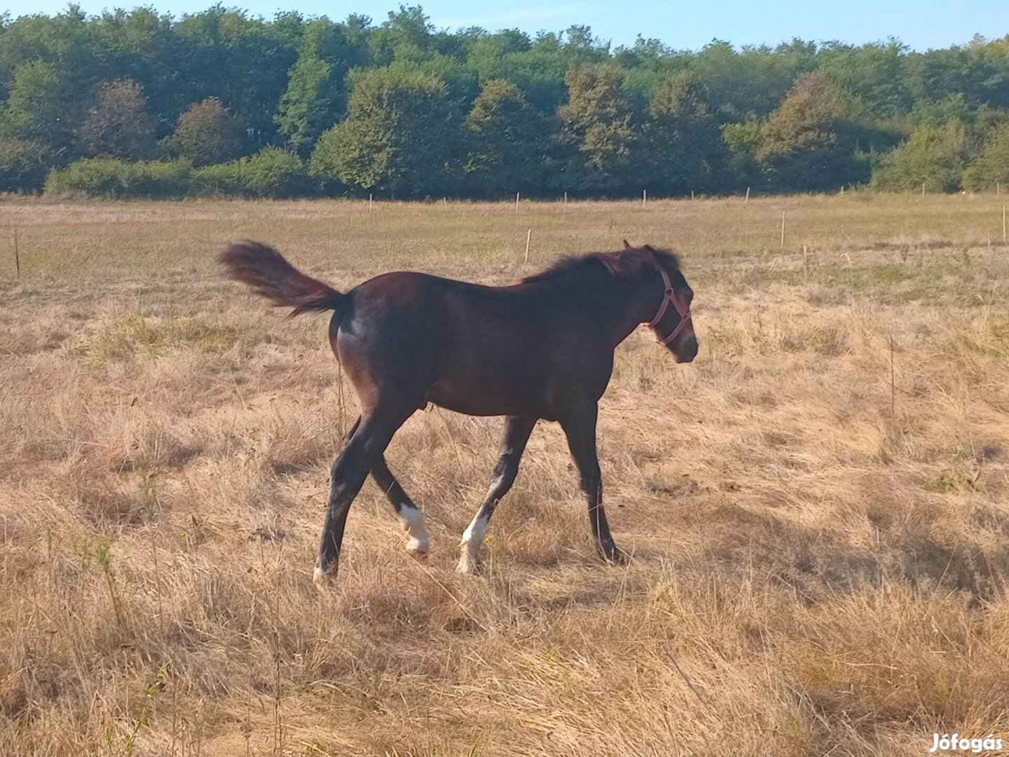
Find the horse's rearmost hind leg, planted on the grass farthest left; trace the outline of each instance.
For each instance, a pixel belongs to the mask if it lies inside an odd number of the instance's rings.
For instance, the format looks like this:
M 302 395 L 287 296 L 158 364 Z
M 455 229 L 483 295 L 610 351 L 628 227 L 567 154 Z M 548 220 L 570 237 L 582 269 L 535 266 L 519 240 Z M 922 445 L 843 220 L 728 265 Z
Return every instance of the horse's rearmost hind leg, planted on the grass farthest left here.
M 319 588 L 326 587 L 327 576 L 337 569 L 350 503 L 361 491 L 368 471 L 385 451 L 393 434 L 409 417 L 410 412 L 372 412 L 363 416 L 358 424 L 354 424 L 347 445 L 333 463 L 329 505 L 313 577 Z

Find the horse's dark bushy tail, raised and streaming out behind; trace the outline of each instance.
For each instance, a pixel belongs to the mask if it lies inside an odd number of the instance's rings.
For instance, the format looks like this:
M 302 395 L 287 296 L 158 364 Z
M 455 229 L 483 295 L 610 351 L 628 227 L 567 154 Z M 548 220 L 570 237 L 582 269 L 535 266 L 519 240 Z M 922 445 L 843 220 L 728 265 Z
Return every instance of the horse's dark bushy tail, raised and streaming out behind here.
M 342 315 L 348 298 L 298 271 L 284 255 L 259 242 L 228 245 L 217 257 L 226 276 L 249 285 L 274 305 L 290 305 L 291 315 L 334 310 Z

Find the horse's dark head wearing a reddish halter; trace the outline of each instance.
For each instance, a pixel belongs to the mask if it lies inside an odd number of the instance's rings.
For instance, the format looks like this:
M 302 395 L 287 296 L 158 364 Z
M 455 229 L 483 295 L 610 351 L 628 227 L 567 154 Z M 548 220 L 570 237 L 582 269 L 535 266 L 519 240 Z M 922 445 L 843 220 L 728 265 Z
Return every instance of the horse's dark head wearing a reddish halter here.
M 624 246 L 633 249 L 627 240 Z M 657 304 L 654 317 L 645 323 L 655 331 L 659 344 L 676 355 L 676 362 L 690 362 L 697 356 L 697 336 L 690 315 L 693 290 L 680 272 L 675 255 L 647 244 L 641 249 L 652 253 L 656 269 L 655 274 L 646 274 L 648 300 Z

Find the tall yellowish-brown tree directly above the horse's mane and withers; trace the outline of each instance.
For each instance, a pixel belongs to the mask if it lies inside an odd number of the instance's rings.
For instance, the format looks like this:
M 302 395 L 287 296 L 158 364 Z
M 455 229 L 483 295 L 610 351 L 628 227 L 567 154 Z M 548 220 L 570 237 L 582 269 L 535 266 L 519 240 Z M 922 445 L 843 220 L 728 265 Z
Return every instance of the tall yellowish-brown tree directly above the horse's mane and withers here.
M 611 64 L 589 64 L 564 77 L 568 101 L 557 109 L 566 155 L 567 184 L 575 189 L 619 189 L 629 180 L 635 143 L 631 102 L 623 72 Z

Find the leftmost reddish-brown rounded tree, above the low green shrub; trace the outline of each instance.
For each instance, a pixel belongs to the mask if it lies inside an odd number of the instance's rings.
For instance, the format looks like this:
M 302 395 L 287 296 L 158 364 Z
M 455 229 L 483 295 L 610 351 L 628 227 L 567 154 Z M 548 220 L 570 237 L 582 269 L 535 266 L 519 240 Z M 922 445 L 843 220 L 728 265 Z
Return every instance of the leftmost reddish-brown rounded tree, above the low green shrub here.
M 86 155 L 140 160 L 154 149 L 154 126 L 143 88 L 117 79 L 99 90 L 76 133 Z

